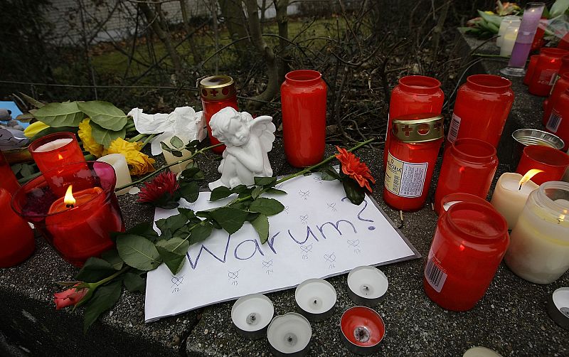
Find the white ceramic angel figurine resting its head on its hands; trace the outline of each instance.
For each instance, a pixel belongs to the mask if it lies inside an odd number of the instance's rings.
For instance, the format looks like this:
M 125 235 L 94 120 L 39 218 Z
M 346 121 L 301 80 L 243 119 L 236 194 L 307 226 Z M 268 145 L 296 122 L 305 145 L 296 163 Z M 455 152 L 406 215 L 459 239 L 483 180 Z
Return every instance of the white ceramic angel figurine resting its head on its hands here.
M 209 124 L 213 136 L 227 146 L 218 168 L 221 178 L 209 183 L 211 190 L 219 186 L 250 186 L 255 183 L 255 176 L 272 176 L 267 156 L 275 141 L 272 117 L 253 119 L 248 112 L 225 107 L 211 117 Z

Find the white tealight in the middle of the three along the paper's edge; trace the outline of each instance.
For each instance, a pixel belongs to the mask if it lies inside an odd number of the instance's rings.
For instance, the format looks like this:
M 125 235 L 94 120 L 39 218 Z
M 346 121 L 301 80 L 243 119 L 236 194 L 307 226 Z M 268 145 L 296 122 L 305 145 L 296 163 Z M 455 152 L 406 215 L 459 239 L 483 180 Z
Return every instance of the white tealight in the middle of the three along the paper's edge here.
M 328 319 L 336 305 L 336 289 L 324 279 L 304 280 L 294 291 L 301 314 L 311 321 Z

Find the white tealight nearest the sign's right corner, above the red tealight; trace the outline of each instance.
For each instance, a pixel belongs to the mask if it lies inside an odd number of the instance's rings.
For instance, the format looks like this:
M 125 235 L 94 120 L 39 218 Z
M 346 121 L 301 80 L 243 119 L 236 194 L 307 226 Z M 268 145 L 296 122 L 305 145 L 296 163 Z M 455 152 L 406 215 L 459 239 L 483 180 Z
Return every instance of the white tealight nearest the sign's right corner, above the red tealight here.
M 381 270 L 366 265 L 356 267 L 348 275 L 348 294 L 353 302 L 376 306 L 388 288 L 388 279 Z

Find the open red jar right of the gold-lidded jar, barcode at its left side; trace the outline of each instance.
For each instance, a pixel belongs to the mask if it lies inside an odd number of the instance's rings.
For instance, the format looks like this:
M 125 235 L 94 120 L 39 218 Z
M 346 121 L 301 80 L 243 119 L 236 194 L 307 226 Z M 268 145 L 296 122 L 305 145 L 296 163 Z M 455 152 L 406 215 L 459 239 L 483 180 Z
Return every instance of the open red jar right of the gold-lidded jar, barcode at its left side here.
M 470 75 L 457 92 L 447 147 L 461 138 L 480 139 L 497 147 L 513 104 L 509 80 L 498 75 Z

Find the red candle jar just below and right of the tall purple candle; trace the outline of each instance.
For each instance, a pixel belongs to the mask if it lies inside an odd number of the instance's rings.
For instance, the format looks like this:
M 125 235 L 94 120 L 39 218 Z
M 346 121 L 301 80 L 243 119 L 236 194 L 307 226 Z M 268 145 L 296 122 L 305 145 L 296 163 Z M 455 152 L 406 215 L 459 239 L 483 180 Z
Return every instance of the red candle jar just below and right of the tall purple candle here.
M 542 48 L 529 80 L 529 92 L 533 95 L 546 97 L 551 92 L 555 75 L 561 68 L 561 57 L 568 54 L 560 48 Z

